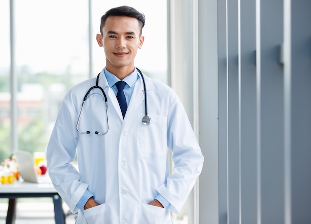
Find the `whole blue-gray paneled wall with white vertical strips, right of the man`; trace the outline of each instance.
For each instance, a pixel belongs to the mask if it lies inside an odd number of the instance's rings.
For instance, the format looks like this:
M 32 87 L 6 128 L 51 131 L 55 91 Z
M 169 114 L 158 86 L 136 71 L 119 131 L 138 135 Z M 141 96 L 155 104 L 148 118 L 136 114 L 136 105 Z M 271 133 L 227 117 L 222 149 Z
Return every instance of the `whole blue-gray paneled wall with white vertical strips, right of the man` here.
M 218 0 L 219 224 L 311 223 L 310 9 L 310 0 Z M 209 56 L 199 55 L 202 71 Z

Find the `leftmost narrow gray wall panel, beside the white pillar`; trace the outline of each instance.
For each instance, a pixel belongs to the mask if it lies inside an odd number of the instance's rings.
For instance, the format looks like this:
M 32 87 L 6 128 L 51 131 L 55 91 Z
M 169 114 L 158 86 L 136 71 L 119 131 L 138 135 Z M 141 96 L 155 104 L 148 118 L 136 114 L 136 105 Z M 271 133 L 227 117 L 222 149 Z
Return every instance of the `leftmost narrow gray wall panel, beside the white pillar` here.
M 217 12 L 218 12 L 217 28 L 218 28 L 219 224 L 228 224 L 227 0 L 218 0 Z M 202 220 L 202 223 L 204 223 L 204 220 Z

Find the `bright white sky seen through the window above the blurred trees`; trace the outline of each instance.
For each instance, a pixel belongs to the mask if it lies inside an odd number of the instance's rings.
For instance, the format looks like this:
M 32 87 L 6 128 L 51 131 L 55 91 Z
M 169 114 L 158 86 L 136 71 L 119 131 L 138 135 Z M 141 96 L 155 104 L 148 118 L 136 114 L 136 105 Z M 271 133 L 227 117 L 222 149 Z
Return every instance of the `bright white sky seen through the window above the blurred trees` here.
M 33 72 L 88 73 L 87 0 L 14 0 L 16 65 Z M 93 70 L 105 65 L 104 51 L 96 42 L 100 17 L 111 7 L 129 5 L 143 12 L 145 42 L 136 66 L 167 69 L 166 0 L 92 0 Z M 0 1 L 0 69 L 9 68 L 9 0 Z M 1 72 L 1 70 L 0 70 Z M 94 76 L 96 75 L 94 74 Z

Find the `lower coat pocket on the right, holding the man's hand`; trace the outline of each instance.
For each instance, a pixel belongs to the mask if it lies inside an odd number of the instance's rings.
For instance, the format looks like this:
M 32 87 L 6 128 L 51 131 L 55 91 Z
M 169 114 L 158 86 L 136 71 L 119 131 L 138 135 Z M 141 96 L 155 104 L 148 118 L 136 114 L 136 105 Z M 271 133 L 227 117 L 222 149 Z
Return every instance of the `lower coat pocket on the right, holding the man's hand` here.
M 148 204 L 141 204 L 138 223 L 172 224 L 169 210 Z

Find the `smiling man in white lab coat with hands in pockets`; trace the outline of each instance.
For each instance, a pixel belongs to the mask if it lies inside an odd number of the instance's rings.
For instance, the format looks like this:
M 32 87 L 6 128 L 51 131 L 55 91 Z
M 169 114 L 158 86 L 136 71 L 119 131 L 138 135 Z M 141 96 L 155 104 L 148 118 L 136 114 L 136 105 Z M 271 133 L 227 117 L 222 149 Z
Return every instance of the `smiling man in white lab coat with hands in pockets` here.
M 61 105 L 47 148 L 48 172 L 78 212 L 77 224 L 172 224 L 169 211 L 180 211 L 201 172 L 204 158 L 177 95 L 134 66 L 144 25 L 144 14 L 132 7 L 108 10 L 96 36 L 106 56 L 97 86 L 83 108 L 96 78 L 73 87 Z M 150 123 L 142 122 L 146 106 Z M 76 155 L 78 170 L 71 164 Z

